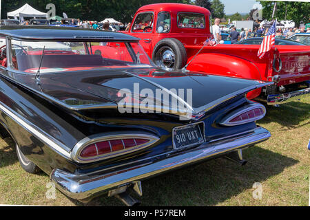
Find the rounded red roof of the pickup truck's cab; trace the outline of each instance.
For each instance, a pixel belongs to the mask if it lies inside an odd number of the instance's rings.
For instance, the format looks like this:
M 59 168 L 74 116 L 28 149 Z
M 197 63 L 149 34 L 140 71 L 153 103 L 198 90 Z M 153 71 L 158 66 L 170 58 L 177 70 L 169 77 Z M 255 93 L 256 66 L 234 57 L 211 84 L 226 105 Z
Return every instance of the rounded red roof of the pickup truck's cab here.
M 196 12 L 201 14 L 211 14 L 207 8 L 203 8 L 197 5 L 187 5 L 181 3 L 155 3 L 150 5 L 144 5 L 138 9 L 141 10 L 156 10 L 156 11 L 177 11 L 177 12 Z

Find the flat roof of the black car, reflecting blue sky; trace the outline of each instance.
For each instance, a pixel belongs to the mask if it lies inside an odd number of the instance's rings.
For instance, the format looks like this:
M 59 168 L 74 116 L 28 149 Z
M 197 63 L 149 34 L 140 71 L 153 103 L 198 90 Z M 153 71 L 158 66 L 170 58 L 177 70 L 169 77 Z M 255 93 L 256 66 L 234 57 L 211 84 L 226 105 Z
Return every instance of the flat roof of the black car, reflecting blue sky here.
M 94 30 L 89 28 L 55 27 L 44 25 L 5 25 L 0 27 L 0 35 L 21 40 L 49 41 L 134 41 L 139 39 L 128 34 Z

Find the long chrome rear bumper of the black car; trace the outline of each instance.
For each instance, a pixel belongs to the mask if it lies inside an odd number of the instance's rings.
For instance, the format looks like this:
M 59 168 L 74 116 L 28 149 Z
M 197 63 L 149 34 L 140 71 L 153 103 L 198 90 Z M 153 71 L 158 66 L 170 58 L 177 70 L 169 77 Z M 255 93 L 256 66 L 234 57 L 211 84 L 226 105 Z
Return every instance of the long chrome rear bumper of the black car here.
M 202 162 L 213 157 L 218 157 L 236 151 L 248 146 L 257 144 L 267 140 L 271 134 L 267 129 L 258 127 L 247 133 L 246 135 L 229 137 L 229 139 L 221 140 L 213 143 L 201 144 L 197 148 L 180 151 L 176 155 L 166 157 L 144 166 L 134 165 L 125 172 L 118 170 L 117 172 L 101 175 L 76 175 L 55 168 L 50 178 L 65 195 L 73 199 L 83 202 L 90 201 L 93 197 L 102 195 L 103 193 L 123 186 L 134 184 L 141 181 L 165 173 L 182 166 Z

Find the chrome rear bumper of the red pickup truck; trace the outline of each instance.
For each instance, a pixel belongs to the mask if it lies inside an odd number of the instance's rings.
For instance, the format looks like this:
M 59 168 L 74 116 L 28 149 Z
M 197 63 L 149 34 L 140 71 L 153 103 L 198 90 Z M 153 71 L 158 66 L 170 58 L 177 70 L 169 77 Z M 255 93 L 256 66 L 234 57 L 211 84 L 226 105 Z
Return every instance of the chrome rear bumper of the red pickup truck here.
M 306 89 L 300 89 L 298 91 L 291 91 L 291 92 L 288 92 L 286 94 L 269 95 L 267 97 L 267 104 L 269 104 L 269 105 L 284 104 L 286 102 L 299 100 L 300 98 L 308 96 L 309 94 L 310 94 L 310 87 L 308 87 Z

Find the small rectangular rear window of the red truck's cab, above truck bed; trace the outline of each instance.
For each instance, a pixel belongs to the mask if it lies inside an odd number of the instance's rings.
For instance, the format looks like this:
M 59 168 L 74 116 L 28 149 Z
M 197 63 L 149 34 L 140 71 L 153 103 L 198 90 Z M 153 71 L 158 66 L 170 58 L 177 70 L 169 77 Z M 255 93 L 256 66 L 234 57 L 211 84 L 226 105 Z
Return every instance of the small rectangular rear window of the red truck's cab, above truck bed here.
M 203 14 L 180 12 L 178 13 L 178 28 L 205 28 Z

